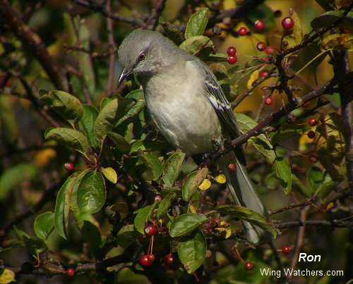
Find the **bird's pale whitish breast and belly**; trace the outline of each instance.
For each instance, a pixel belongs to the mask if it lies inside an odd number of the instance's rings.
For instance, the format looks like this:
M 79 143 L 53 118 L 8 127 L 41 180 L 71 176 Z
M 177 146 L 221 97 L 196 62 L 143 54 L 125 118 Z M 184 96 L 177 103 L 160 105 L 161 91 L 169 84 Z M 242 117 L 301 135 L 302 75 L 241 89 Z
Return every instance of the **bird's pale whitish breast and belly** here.
M 174 147 L 187 154 L 210 152 L 210 137 L 222 130 L 198 66 L 183 61 L 164 69 L 143 86 L 152 120 Z

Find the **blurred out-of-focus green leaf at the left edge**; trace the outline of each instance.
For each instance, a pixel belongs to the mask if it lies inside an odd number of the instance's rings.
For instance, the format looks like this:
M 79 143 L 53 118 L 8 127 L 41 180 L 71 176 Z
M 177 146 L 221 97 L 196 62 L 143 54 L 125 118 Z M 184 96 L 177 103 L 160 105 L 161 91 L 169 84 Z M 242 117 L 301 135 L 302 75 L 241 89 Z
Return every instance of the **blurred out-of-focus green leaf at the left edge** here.
M 18 163 L 5 169 L 0 175 L 0 200 L 4 200 L 12 190 L 36 175 L 37 167 L 33 163 Z

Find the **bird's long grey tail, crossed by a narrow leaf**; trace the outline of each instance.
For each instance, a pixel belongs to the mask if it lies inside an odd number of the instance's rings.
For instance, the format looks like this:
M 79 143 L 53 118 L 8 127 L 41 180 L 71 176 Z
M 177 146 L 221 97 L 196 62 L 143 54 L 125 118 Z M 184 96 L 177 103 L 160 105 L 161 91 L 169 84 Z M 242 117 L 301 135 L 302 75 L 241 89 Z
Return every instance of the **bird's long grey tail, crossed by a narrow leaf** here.
M 235 171 L 229 171 L 229 163 L 235 163 Z M 260 197 L 258 197 L 246 168 L 239 163 L 234 152 L 222 156 L 218 160 L 218 166 L 227 178 L 227 186 L 229 192 L 232 194 L 235 204 L 252 209 L 269 220 L 270 216 L 268 215 L 265 206 L 263 206 Z M 256 244 L 263 240 L 270 240 L 270 235 L 261 228 L 246 221 L 242 221 L 242 223 L 246 236 L 251 242 Z

